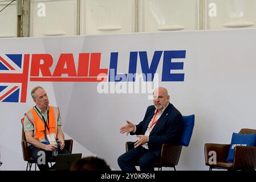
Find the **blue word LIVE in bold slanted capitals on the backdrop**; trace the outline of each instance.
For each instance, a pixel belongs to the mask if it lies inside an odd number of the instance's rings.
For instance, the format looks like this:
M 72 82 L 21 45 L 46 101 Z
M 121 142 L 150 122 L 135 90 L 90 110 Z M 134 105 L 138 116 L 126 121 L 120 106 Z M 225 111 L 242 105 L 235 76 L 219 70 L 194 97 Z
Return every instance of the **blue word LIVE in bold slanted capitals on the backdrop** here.
M 172 70 L 182 70 L 183 62 L 172 62 L 172 59 L 184 59 L 186 51 L 155 51 L 151 64 L 149 65 L 147 51 L 140 51 L 140 64 L 144 81 L 153 81 L 160 59 L 164 52 L 162 64 L 162 81 L 184 81 L 184 73 L 172 73 Z M 117 74 L 118 52 L 111 52 L 109 65 L 109 82 L 136 81 L 138 52 L 130 52 L 128 74 Z

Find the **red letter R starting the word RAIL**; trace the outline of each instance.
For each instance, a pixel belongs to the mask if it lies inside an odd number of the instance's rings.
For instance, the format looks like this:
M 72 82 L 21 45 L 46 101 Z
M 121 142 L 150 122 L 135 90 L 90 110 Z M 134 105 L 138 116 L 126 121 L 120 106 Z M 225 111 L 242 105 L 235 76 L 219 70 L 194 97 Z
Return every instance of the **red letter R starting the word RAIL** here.
M 40 64 L 41 60 L 43 60 L 43 64 Z M 39 71 L 41 71 L 42 76 L 51 76 L 50 67 L 52 63 L 53 60 L 49 54 L 33 54 L 30 76 L 39 77 Z

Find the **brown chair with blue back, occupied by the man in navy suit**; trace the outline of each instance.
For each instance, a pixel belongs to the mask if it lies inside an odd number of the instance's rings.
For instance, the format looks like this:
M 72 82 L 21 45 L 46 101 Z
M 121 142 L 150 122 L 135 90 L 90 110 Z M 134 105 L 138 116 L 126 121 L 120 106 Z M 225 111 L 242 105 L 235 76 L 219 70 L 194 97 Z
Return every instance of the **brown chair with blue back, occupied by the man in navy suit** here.
M 155 167 L 159 168 L 159 171 L 162 170 L 162 167 L 173 167 L 174 171 L 176 171 L 175 166 L 177 166 L 178 160 L 180 159 L 182 146 L 189 146 L 194 128 L 194 114 L 183 116 L 183 122 L 184 127 L 179 144 L 177 146 L 166 143 L 162 144 L 160 161 L 155 165 Z M 133 142 L 126 142 L 126 151 L 131 148 L 131 143 Z

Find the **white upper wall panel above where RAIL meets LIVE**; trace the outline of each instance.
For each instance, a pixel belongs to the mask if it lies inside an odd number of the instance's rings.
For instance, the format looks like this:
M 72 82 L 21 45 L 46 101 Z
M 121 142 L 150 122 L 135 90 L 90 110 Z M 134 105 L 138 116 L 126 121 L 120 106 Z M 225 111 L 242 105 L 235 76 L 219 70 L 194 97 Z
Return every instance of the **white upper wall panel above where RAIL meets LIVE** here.
M 134 32 L 134 1 L 81 1 L 80 34 L 118 34 Z

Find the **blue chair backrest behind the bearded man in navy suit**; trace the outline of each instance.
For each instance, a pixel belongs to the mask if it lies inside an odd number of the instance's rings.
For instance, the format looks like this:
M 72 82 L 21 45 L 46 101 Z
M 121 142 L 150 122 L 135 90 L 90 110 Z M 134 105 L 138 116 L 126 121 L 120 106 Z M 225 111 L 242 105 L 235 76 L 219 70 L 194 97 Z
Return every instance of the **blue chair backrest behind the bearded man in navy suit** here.
M 179 144 L 185 147 L 189 146 L 194 128 L 194 114 L 183 116 L 183 130 Z

